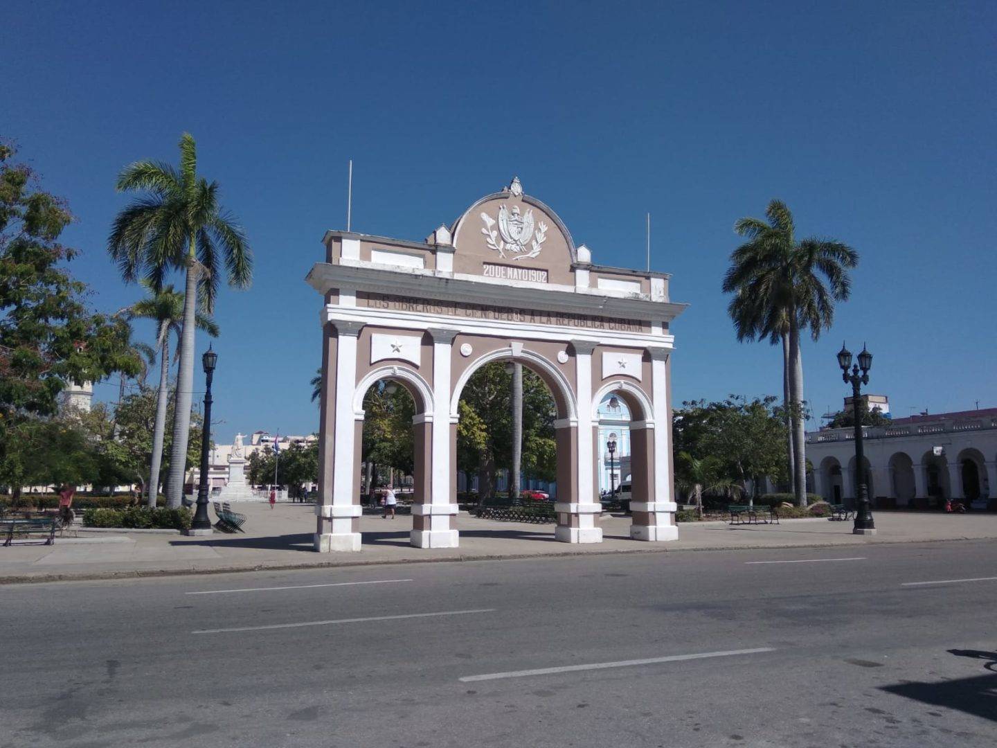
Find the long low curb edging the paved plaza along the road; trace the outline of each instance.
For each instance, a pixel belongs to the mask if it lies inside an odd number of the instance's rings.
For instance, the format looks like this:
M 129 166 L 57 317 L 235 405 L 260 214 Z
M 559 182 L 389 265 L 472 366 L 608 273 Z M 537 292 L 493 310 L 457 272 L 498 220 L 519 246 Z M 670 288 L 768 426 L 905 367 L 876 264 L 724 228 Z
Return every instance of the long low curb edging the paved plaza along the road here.
M 712 553 L 715 551 L 786 551 L 789 549 L 813 549 L 813 548 L 847 548 L 850 546 L 902 546 L 917 544 L 936 543 L 958 543 L 960 541 L 991 542 L 993 538 L 942 538 L 934 540 L 907 540 L 907 541 L 871 541 L 857 540 L 861 536 L 855 536 L 856 540 L 847 543 L 811 543 L 805 545 L 779 545 L 779 546 L 718 546 L 711 548 L 651 548 L 651 549 L 613 549 L 607 551 L 564 551 L 552 554 L 507 554 L 507 555 L 485 555 L 485 556 L 455 556 L 445 559 L 398 559 L 398 560 L 378 560 L 378 561 L 314 561 L 306 563 L 256 563 L 236 566 L 216 566 L 211 568 L 156 568 L 156 569 L 132 569 L 125 571 L 95 571 L 82 573 L 46 573 L 38 575 L 10 574 L 0 576 L 0 585 L 3 584 L 41 584 L 55 581 L 101 581 L 109 579 L 141 579 L 155 578 L 159 576 L 194 576 L 202 574 L 227 574 L 239 573 L 243 571 L 294 571 L 298 569 L 315 568 L 344 568 L 346 566 L 392 566 L 413 563 L 454 563 L 463 561 L 521 561 L 532 559 L 542 561 L 544 559 L 564 559 L 568 557 L 584 556 L 625 556 L 636 554 L 690 554 L 690 553 Z

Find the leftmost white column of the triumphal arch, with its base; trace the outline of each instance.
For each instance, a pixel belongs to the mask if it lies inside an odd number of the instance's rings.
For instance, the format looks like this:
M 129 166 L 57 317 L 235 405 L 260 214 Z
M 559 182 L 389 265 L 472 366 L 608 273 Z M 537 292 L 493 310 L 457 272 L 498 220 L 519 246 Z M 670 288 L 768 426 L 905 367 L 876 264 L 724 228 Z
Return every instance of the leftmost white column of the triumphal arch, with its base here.
M 323 471 L 319 487 L 322 502 L 315 505 L 315 514 L 319 517 L 315 550 L 322 553 L 359 551 L 362 514 L 355 468 L 357 433 L 363 429 L 363 417 L 358 419 L 353 410 L 353 393 L 357 380 L 357 335 L 363 323 L 338 320 L 332 324 L 338 333 L 336 357 L 335 362 L 324 362 L 322 377 L 323 413 L 328 413 L 330 407 L 334 409 L 331 418 L 322 419 L 323 446 L 328 444 L 330 437 L 333 442 L 332 475 L 328 470 Z M 333 402 L 327 402 L 327 397 L 333 397 Z

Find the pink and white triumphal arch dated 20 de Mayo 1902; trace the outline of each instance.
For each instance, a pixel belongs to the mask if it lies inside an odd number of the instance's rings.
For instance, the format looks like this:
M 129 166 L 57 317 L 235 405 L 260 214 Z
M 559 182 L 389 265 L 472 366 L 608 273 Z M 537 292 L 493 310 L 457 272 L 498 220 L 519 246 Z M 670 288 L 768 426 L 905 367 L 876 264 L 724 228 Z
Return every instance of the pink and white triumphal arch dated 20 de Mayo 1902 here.
M 610 393 L 633 419 L 630 535 L 677 538 L 670 325 L 685 305 L 667 274 L 594 264 L 518 180 L 425 241 L 328 231 L 323 243 L 307 277 L 325 301 L 316 551 L 361 548 L 363 403 L 380 380 L 416 404 L 412 545 L 459 545 L 458 401 L 492 361 L 531 369 L 556 402 L 556 540 L 602 540 L 596 410 Z

